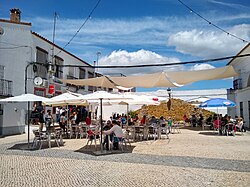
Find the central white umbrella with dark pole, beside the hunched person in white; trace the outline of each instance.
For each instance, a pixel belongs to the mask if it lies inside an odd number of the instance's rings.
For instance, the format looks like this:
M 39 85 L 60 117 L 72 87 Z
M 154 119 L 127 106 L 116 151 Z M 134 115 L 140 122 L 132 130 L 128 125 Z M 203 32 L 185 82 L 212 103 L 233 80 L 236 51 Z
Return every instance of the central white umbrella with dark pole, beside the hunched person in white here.
M 84 100 L 88 100 L 88 101 L 94 101 L 94 100 L 98 100 L 100 103 L 100 123 L 101 123 L 101 151 L 103 150 L 102 148 L 102 128 L 103 128 L 103 125 L 102 125 L 102 104 L 103 104 L 103 101 L 110 101 L 110 100 L 126 100 L 124 98 L 124 96 L 122 95 L 119 95 L 119 94 L 111 94 L 111 93 L 108 93 L 106 91 L 97 91 L 97 92 L 94 92 L 94 93 L 91 93 L 91 94 L 87 94 L 87 95 L 83 95 L 81 97 L 82 99 Z

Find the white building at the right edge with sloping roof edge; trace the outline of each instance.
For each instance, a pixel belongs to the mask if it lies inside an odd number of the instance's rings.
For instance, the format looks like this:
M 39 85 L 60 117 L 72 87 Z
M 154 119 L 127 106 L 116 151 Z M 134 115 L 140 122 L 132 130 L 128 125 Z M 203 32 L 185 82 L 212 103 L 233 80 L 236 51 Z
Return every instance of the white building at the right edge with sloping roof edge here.
M 250 44 L 246 45 L 238 54 L 250 54 Z M 239 73 L 234 77 L 233 88 L 228 89 L 228 99 L 236 103 L 236 107 L 229 108 L 231 116 L 241 116 L 244 118 L 245 126 L 250 128 L 250 56 L 236 57 L 228 64 L 234 66 Z

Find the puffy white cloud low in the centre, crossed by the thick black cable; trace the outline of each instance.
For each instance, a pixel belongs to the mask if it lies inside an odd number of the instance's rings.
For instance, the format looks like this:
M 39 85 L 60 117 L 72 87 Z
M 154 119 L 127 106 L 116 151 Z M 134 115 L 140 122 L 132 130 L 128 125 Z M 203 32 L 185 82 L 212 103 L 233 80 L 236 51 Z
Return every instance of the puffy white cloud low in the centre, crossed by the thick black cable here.
M 136 52 L 128 52 L 125 50 L 113 51 L 110 55 L 102 57 L 99 60 L 99 65 L 109 66 L 129 66 L 129 65 L 141 65 L 141 64 L 165 64 L 179 62 L 177 58 L 163 57 L 157 53 L 147 50 L 139 50 Z M 175 71 L 182 69 L 182 66 L 168 66 L 168 67 L 145 67 L 145 68 L 119 68 L 119 69 L 99 69 L 103 74 L 116 75 L 138 75 L 146 73 L 154 73 L 159 71 Z

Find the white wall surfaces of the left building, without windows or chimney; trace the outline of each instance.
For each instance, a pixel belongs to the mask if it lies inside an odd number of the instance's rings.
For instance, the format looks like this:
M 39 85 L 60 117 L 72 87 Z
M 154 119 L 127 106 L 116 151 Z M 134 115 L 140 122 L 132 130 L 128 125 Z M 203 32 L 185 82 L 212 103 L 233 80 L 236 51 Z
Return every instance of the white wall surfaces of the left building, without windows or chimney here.
M 4 34 L 0 35 L 0 65 L 4 66 L 4 79 L 13 82 L 12 95 L 25 93 L 25 69 L 27 67 L 27 93 L 34 93 L 34 90 L 45 90 L 44 96 L 48 95 L 48 87 L 37 86 L 33 79 L 35 74 L 31 62 L 36 62 L 36 47 L 40 47 L 48 52 L 48 60 L 52 56 L 52 43 L 45 38 L 31 32 L 31 24 L 12 23 L 0 20 L 0 27 L 4 29 Z M 58 54 L 59 48 L 55 46 L 54 54 Z M 94 72 L 94 68 L 83 63 L 74 55 L 62 51 L 58 56 L 64 59 L 67 65 L 87 65 L 86 78 L 88 72 Z M 74 77 L 79 78 L 79 68 L 74 68 Z M 63 76 L 67 78 L 69 68 L 63 68 Z M 49 77 L 47 77 L 49 78 Z M 50 80 L 53 83 L 53 79 Z M 68 87 L 56 84 L 59 93 L 64 92 Z M 84 88 L 88 90 L 86 86 Z M 32 107 L 33 103 L 31 103 Z M 20 134 L 25 131 L 25 118 L 27 117 L 27 103 L 4 103 L 1 104 L 3 115 L 0 114 L 0 135 Z

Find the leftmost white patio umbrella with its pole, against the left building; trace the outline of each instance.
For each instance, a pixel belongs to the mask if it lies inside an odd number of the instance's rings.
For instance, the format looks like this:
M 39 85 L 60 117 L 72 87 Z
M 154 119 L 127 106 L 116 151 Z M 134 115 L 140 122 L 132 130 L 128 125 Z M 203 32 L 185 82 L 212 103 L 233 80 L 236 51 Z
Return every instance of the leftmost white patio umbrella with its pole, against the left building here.
M 5 103 L 5 102 L 9 102 L 9 103 L 15 103 L 15 102 L 28 102 L 28 146 L 30 143 L 30 124 L 29 124 L 29 120 L 30 120 L 30 116 L 29 116 L 29 108 L 30 108 L 30 102 L 35 102 L 35 101 L 41 101 L 41 102 L 48 102 L 49 99 L 45 98 L 45 97 L 41 97 L 38 95 L 34 95 L 34 94 L 22 94 L 22 95 L 18 95 L 18 96 L 14 96 L 14 97 L 8 97 L 5 99 L 0 99 L 0 102 Z

